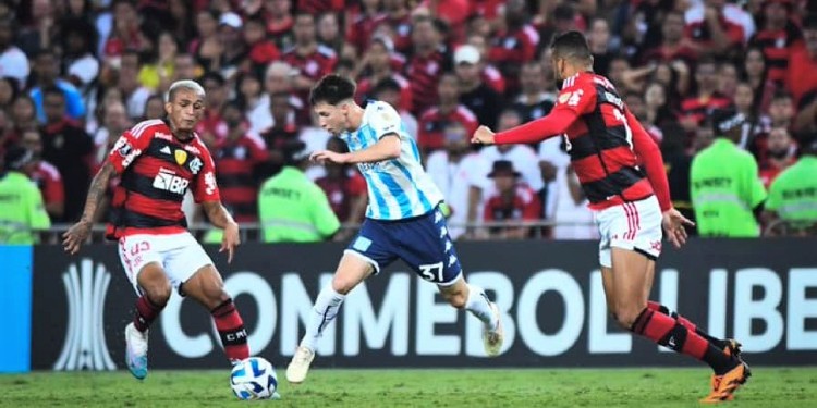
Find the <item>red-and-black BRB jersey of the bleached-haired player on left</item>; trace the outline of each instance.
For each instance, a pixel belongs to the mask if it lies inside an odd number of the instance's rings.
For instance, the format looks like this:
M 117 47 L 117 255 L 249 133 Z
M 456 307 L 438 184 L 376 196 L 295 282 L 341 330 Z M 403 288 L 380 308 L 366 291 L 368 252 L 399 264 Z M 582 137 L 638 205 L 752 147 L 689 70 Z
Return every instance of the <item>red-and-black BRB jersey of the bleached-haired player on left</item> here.
M 107 236 L 173 234 L 186 230 L 182 200 L 220 201 L 216 166 L 198 135 L 181 141 L 161 120 L 138 123 L 117 140 L 108 161 L 121 175 Z

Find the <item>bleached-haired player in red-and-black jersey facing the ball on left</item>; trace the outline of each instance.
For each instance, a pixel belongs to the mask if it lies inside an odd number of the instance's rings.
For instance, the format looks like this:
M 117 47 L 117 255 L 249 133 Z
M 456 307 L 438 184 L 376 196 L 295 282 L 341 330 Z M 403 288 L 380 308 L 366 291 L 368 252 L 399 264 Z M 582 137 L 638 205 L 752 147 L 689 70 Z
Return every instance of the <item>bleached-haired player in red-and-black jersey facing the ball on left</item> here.
M 173 287 L 210 310 L 232 362 L 249 357 L 241 316 L 182 212 L 190 188 L 210 222 L 224 230 L 221 250 L 232 261 L 239 225 L 221 205 L 212 158 L 194 132 L 204 109 L 205 90 L 198 83 L 173 83 L 164 104 L 168 120 L 141 122 L 119 138 L 90 184 L 82 219 L 63 235 L 65 251 L 76 254 L 90 234 L 109 180 L 121 175 L 107 236 L 119 240 L 122 265 L 138 295 L 133 322 L 125 327 L 125 359 L 139 380 L 147 375 L 148 327 Z

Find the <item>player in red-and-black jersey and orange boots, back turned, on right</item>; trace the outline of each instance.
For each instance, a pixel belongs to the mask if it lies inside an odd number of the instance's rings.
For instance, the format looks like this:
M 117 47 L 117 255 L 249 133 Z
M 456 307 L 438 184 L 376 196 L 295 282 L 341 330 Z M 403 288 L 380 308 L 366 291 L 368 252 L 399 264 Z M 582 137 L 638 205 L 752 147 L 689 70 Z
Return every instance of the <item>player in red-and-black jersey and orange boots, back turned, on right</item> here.
M 498 134 L 481 126 L 472 141 L 529 144 L 563 135 L 601 232 L 599 261 L 610 312 L 631 332 L 708 363 L 715 373 L 705 401 L 731 399 L 749 375 L 739 344 L 711 337 L 647 298 L 661 226 L 678 247 L 686 240 L 683 225 L 691 224 L 672 208 L 658 147 L 610 82 L 593 73 L 581 33 L 557 37 L 551 48 L 553 72 L 564 83 L 550 114 Z

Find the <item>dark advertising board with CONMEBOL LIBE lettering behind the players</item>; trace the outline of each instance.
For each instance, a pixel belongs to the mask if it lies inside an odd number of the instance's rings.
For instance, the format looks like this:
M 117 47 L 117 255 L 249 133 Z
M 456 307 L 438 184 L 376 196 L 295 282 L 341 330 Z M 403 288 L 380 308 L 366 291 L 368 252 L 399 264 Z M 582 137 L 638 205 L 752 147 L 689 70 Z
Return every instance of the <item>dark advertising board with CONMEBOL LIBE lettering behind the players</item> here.
M 480 323 L 454 310 L 397 262 L 356 288 L 318 345 L 317 367 L 686 366 L 631 336 L 608 317 L 595 242 L 467 242 L 458 245 L 470 282 L 502 311 L 505 345 L 484 356 Z M 653 298 L 715 336 L 736 337 L 758 366 L 817 361 L 817 239 L 692 239 L 666 248 Z M 342 254 L 340 244 L 240 247 L 232 264 L 207 250 L 234 296 L 253 354 L 284 364 L 312 300 Z M 123 329 L 135 293 L 112 245 L 70 257 L 59 246 L 0 247 L 11 294 L 0 371 L 124 367 Z M 209 313 L 173 295 L 150 331 L 150 364 L 227 364 Z M 31 349 L 31 354 L 28 350 Z

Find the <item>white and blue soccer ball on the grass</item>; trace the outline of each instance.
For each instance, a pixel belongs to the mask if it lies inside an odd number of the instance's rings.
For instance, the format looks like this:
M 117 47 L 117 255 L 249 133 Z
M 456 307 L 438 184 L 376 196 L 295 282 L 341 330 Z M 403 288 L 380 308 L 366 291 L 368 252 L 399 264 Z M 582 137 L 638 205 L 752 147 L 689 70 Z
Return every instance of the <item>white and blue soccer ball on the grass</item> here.
M 261 357 L 249 357 L 233 366 L 230 387 L 239 399 L 267 399 L 276 393 L 276 368 Z

